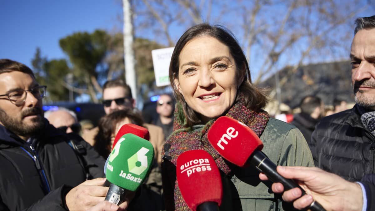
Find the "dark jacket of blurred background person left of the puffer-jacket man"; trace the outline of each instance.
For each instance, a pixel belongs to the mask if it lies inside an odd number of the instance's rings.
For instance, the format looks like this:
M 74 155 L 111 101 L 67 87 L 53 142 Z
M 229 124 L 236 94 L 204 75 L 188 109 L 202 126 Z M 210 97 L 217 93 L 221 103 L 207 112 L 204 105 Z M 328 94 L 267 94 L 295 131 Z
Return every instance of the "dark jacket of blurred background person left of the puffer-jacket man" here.
M 312 118 L 309 114 L 297 113 L 293 116 L 293 121 L 290 124 L 296 126 L 305 137 L 306 142 L 310 144 L 311 134 L 317 123 L 318 120 Z

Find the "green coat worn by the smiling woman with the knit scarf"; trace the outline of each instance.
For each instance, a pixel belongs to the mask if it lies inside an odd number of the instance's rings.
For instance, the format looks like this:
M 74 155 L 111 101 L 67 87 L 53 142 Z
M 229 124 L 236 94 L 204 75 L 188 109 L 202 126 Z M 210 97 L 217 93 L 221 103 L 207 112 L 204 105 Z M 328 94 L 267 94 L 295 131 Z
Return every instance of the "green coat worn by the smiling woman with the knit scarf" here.
M 260 136 L 262 151 L 280 166 L 314 166 L 311 151 L 302 133 L 293 125 L 270 118 Z M 231 166 L 231 175 L 222 175 L 223 200 L 220 211 L 293 210 L 259 179 L 254 167 Z

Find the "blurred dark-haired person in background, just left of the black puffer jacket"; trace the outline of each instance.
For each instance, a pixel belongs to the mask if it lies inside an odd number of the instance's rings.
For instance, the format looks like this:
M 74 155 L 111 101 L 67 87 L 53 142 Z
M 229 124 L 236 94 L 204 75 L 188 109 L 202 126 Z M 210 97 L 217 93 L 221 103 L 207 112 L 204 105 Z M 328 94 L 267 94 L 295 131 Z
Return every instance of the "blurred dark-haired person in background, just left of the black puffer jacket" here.
M 296 126 L 302 132 L 309 144 L 315 125 L 324 116 L 324 104 L 317 96 L 309 95 L 302 98 L 300 108 L 301 113 L 295 114 L 290 124 Z

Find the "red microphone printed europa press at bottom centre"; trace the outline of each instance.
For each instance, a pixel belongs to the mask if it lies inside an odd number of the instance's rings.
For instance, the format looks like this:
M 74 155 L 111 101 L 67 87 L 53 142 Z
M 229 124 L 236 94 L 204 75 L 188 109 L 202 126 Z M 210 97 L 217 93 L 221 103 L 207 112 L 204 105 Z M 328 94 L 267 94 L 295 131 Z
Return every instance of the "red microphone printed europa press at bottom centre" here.
M 182 197 L 193 211 L 218 211 L 223 195 L 219 168 L 206 151 L 191 150 L 177 158 L 176 174 Z

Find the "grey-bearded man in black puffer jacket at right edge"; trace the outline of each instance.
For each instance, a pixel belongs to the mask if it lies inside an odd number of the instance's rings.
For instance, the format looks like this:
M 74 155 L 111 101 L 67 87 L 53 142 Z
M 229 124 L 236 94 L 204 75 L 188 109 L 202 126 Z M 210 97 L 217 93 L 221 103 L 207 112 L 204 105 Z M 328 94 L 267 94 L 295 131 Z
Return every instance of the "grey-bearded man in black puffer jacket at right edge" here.
M 357 104 L 323 118 L 310 143 L 315 166 L 349 181 L 375 173 L 375 16 L 357 18 L 354 33 L 350 57 Z

